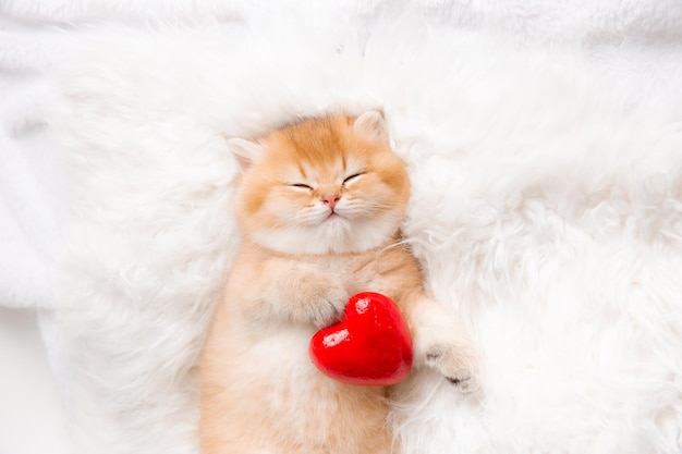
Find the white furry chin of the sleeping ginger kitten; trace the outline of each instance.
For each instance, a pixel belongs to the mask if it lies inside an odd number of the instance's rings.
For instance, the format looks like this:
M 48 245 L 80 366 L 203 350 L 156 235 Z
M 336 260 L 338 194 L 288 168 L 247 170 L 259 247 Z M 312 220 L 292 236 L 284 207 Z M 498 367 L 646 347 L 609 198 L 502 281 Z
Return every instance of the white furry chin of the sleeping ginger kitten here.
M 374 249 L 389 242 L 400 228 L 395 219 L 350 222 L 329 219 L 317 226 L 251 232 L 251 238 L 269 249 L 292 255 L 351 254 Z

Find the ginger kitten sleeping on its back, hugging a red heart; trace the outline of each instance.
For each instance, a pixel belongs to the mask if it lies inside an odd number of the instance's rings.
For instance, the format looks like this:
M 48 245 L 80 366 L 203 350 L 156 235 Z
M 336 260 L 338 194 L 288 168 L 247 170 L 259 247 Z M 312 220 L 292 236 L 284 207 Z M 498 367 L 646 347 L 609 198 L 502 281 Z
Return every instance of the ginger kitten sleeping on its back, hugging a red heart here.
M 343 384 L 308 358 L 315 331 L 361 291 L 389 296 L 413 335 L 415 367 L 466 390 L 476 355 L 458 320 L 424 292 L 401 243 L 405 165 L 383 116 L 331 115 L 229 146 L 244 238 L 200 364 L 206 454 L 388 454 L 392 388 Z

